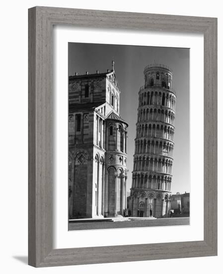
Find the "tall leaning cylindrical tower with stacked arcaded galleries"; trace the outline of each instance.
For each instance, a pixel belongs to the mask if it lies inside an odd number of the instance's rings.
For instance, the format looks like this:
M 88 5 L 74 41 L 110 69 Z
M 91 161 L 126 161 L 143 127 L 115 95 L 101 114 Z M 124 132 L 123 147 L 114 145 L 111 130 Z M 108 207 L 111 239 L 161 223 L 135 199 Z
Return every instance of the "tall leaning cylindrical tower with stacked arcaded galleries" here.
M 131 188 L 132 216 L 167 217 L 172 183 L 176 95 L 173 73 L 165 65 L 148 65 L 139 91 L 134 167 Z

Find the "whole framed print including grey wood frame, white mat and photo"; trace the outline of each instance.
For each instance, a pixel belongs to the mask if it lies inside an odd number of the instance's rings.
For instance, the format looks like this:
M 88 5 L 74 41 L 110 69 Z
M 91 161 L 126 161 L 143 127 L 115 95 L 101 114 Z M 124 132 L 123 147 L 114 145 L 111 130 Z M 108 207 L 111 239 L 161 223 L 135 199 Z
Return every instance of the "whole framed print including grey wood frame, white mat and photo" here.
M 217 255 L 216 197 L 217 19 L 29 9 L 29 264 Z

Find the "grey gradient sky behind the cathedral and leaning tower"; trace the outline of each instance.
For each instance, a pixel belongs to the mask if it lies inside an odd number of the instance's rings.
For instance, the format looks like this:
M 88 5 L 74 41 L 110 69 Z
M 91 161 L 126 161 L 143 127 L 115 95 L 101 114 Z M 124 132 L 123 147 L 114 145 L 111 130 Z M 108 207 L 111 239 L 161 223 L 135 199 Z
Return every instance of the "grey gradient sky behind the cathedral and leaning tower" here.
M 132 184 L 133 154 L 135 151 L 139 88 L 144 85 L 144 68 L 149 64 L 163 64 L 173 71 L 176 90 L 175 135 L 172 167 L 172 193 L 190 192 L 189 158 L 189 54 L 188 48 L 149 47 L 69 43 L 69 75 L 107 72 L 115 61 L 115 74 L 121 89 L 120 115 L 128 127 L 128 188 Z M 130 191 L 129 189 L 127 191 Z

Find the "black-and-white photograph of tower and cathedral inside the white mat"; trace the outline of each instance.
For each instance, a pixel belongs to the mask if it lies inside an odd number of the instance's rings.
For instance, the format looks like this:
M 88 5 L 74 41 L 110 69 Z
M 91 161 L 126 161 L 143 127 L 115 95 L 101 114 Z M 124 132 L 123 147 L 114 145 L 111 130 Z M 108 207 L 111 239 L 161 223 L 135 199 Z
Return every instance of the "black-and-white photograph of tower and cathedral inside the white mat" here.
M 69 230 L 190 224 L 190 49 L 69 43 Z

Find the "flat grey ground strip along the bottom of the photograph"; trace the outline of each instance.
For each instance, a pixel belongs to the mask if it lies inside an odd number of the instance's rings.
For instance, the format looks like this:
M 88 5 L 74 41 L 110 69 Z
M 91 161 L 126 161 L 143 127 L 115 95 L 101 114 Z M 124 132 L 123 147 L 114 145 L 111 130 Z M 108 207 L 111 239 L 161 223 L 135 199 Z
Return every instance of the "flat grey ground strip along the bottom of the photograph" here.
M 116 222 L 78 222 L 70 223 L 69 230 L 89 230 L 89 229 L 109 229 L 109 228 L 128 228 L 128 227 L 154 227 L 154 226 L 180 226 L 189 225 L 189 217 L 180 218 L 161 218 L 161 219 L 137 219 L 130 221 Z

